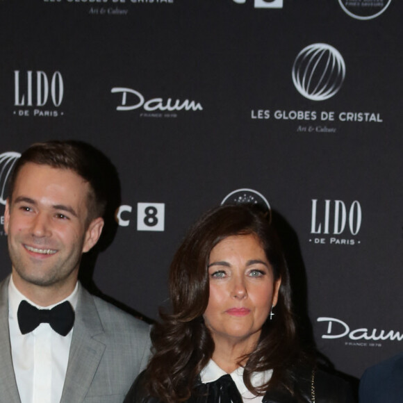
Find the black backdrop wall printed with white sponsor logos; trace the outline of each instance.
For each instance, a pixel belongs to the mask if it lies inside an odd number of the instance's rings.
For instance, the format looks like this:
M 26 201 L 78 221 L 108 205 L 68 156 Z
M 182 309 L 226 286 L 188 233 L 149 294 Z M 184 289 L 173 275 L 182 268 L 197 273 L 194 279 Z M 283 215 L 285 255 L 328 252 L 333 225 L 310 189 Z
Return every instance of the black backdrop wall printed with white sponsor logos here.
M 403 350 L 402 13 L 399 0 L 1 0 L 1 220 L 28 145 L 97 147 L 119 205 L 83 277 L 156 319 L 190 224 L 223 201 L 265 204 L 306 337 L 360 377 Z

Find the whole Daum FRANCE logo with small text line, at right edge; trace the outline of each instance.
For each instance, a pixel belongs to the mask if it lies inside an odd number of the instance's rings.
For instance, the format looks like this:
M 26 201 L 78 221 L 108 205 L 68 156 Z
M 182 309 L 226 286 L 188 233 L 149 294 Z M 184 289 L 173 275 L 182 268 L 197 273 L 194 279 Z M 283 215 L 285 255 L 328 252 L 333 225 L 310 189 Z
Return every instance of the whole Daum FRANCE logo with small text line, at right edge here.
M 356 347 L 382 347 L 384 341 L 402 341 L 403 333 L 395 330 L 368 329 L 361 327 L 352 328 L 343 320 L 337 318 L 320 317 L 317 322 L 323 322 L 326 327 L 323 329 L 321 338 L 338 340 L 342 339 L 345 345 Z

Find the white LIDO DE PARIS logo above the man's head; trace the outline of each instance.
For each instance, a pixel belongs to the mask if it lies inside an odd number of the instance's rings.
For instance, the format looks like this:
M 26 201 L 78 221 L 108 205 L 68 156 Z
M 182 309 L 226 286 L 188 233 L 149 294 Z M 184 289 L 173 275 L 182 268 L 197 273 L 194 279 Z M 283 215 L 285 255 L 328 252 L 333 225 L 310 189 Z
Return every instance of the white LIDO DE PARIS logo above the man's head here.
M 14 71 L 13 114 L 20 117 L 63 115 L 64 83 L 60 72 Z

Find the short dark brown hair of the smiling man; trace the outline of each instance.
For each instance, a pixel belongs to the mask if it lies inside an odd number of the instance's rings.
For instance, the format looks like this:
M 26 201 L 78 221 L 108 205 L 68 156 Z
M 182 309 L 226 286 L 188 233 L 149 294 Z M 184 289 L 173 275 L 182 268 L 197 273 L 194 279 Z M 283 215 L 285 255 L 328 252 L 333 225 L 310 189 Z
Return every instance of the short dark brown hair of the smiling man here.
M 88 220 L 102 217 L 108 200 L 102 175 L 101 153 L 85 142 L 75 140 L 51 140 L 37 142 L 24 151 L 15 164 L 10 178 L 10 201 L 13 197 L 15 181 L 26 163 L 49 165 L 49 167 L 72 170 L 90 185 L 88 195 Z

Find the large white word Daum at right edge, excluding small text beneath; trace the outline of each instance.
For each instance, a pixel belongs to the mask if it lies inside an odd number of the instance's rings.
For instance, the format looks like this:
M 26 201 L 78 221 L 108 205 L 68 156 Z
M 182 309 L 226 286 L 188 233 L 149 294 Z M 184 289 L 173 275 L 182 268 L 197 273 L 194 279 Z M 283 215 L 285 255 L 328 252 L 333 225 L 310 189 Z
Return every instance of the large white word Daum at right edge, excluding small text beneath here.
M 350 329 L 349 325 L 343 320 L 336 318 L 318 318 L 318 322 L 327 323 L 326 330 L 322 334 L 322 338 L 349 338 L 350 340 L 403 340 L 403 334 L 399 331 L 385 331 L 382 329 L 368 329 L 361 327 L 360 329 Z

